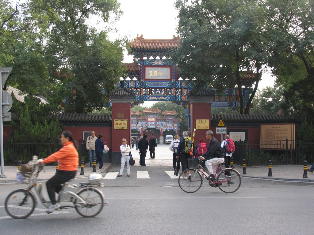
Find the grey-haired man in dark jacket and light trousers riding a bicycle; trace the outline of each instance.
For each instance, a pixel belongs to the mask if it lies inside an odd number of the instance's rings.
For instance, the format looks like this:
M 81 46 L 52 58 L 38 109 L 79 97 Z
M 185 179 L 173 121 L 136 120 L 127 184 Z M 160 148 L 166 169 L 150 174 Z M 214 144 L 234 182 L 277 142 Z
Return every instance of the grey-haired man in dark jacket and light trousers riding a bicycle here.
M 214 171 L 213 166 L 222 164 L 225 162 L 225 153 L 221 148 L 218 140 L 214 137 L 214 133 L 212 131 L 206 132 L 206 138 L 209 140 L 209 148 L 206 154 L 203 155 L 200 159 L 202 161 L 205 160 L 205 166 L 208 170 L 210 176 L 206 177 L 207 180 L 214 180 Z M 214 169 L 216 170 L 216 168 Z

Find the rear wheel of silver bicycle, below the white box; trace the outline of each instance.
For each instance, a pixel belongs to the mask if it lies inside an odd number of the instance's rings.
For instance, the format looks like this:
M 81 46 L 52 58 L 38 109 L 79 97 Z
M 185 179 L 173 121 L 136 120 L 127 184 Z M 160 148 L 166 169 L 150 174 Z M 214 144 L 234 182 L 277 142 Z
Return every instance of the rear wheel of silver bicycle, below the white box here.
M 75 210 L 83 217 L 94 217 L 98 215 L 103 207 L 104 199 L 98 190 L 95 188 L 85 188 L 78 192 L 84 201 L 87 202 L 86 205 L 80 204 L 79 200 L 75 200 Z

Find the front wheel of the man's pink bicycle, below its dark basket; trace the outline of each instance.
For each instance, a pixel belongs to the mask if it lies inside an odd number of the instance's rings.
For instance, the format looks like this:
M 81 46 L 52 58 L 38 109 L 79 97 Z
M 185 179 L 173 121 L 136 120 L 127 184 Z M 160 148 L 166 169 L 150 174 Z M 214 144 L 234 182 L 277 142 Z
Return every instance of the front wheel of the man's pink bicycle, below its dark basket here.
M 187 173 L 187 178 L 185 178 L 184 173 Z M 189 174 L 191 176 L 189 177 Z M 179 176 L 179 186 L 187 193 L 194 193 L 200 189 L 203 184 L 203 177 L 200 173 L 194 169 L 187 169 L 182 171 Z

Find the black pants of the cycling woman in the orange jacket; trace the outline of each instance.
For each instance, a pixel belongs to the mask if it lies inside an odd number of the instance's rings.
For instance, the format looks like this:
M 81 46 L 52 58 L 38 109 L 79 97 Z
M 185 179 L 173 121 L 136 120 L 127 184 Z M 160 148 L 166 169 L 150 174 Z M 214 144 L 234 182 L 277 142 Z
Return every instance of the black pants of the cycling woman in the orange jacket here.
M 76 170 L 58 170 L 57 174 L 52 176 L 47 182 L 47 192 L 52 204 L 56 204 L 56 193 L 62 189 L 62 184 L 73 179 L 76 175 Z

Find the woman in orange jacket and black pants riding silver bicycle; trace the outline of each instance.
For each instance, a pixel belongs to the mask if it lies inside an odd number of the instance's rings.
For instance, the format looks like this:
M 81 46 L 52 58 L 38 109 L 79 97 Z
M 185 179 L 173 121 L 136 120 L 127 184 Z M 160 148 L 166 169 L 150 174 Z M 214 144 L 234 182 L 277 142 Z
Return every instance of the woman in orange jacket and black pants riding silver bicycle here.
M 59 208 L 56 192 L 59 193 L 62 189 L 61 185 L 75 177 L 78 168 L 78 152 L 72 133 L 63 131 L 60 140 L 63 147 L 59 151 L 37 161 L 38 164 L 47 164 L 55 161 L 59 164 L 57 174 L 46 182 L 47 192 L 51 201 L 49 208 L 46 210 L 48 214 Z

